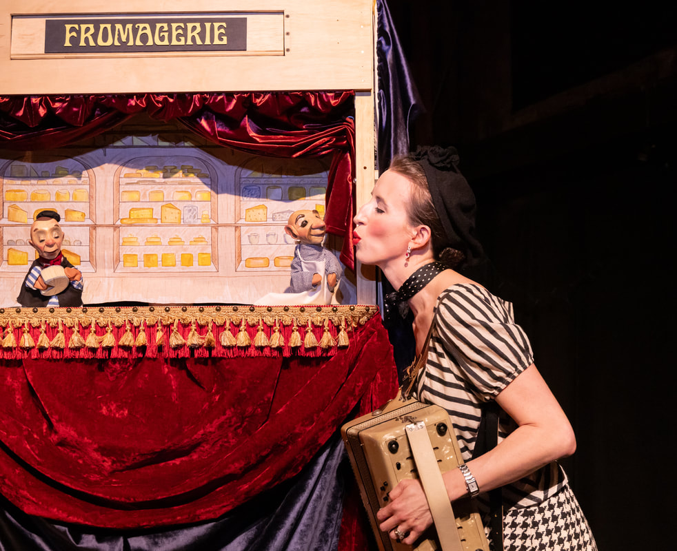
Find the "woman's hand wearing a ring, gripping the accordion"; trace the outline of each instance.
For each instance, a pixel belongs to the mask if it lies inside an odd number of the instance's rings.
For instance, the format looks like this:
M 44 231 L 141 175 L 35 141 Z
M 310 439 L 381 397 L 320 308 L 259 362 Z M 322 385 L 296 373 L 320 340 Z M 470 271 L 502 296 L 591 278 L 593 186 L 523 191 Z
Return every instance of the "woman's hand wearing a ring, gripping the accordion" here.
M 391 539 L 413 545 L 432 524 L 432 514 L 421 482 L 404 479 L 392 489 L 389 497 L 390 503 L 376 513 L 381 522 L 378 528 L 387 532 Z M 395 530 L 407 534 L 406 537 L 398 537 Z

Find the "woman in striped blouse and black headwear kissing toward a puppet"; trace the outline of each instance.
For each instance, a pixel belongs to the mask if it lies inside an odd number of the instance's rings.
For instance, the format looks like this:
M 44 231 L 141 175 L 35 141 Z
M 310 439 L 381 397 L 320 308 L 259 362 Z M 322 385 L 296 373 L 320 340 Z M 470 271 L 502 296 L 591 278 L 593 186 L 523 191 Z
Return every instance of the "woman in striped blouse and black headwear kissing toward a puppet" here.
M 576 450 L 574 431 L 534 365 L 512 304 L 457 271 L 483 256 L 474 195 L 457 163 L 455 149 L 441 147 L 395 158 L 354 218 L 356 258 L 381 268 L 396 289 L 394 306 L 414 315 L 416 354 L 427 354 L 403 391 L 452 419 L 467 468 L 444 473 L 449 500 L 479 494 L 487 526 L 487 492 L 501 488 L 503 512 L 494 514 L 505 551 L 595 551 L 556 462 Z M 498 405 L 497 445 L 474 455 L 491 404 Z M 414 544 L 432 525 L 421 484 L 401 481 L 378 520 L 392 539 Z

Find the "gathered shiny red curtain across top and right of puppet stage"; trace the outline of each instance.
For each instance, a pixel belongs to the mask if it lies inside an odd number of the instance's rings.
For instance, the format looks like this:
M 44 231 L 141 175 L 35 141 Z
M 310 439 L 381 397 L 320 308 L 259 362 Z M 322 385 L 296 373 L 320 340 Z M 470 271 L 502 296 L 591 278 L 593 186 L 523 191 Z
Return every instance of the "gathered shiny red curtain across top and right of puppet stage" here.
M 327 231 L 343 236 L 354 269 L 354 92 L 0 96 L 0 148 L 54 149 L 101 134 L 134 114 L 176 119 L 224 146 L 276 157 L 332 156 Z

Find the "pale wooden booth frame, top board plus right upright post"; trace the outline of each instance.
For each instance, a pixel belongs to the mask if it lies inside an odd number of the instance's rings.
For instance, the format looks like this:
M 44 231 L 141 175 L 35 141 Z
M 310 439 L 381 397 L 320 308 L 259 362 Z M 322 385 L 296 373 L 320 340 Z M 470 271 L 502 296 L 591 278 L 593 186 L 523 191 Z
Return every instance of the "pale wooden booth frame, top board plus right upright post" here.
M 181 92 L 355 92 L 355 207 L 374 163 L 376 14 L 373 0 L 5 0 L 0 95 Z M 246 9 L 243 9 L 246 8 Z M 45 53 L 46 19 L 239 17 L 245 50 Z M 177 78 L 179 75 L 179 78 Z M 356 302 L 376 303 L 374 269 L 355 267 Z

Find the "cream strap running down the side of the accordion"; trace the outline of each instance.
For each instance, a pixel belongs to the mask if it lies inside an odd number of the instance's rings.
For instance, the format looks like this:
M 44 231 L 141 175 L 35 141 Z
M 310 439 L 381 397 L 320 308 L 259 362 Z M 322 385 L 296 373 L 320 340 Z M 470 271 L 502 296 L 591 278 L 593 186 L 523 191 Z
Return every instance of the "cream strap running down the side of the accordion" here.
M 442 550 L 463 551 L 456 521 L 454 521 L 452 503 L 447 496 L 442 473 L 432 450 L 430 435 L 428 435 L 425 423 L 409 424 L 405 430 Z

